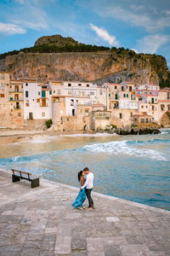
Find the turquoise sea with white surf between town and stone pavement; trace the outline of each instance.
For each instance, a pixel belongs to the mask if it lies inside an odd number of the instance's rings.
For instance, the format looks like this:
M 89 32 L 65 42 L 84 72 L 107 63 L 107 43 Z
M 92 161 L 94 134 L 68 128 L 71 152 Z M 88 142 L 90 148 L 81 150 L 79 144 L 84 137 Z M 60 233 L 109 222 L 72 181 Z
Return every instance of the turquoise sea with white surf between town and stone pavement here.
M 94 190 L 170 210 L 170 134 L 32 137 L 1 143 L 0 167 L 26 170 L 78 186 L 77 172 L 94 172 Z

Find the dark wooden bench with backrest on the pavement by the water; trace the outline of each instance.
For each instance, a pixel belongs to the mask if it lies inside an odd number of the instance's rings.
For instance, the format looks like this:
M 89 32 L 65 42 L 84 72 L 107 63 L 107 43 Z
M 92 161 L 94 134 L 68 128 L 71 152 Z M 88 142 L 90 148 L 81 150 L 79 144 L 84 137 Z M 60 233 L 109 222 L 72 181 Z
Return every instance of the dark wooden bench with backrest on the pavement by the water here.
M 31 188 L 36 188 L 39 186 L 39 177 L 32 176 L 30 172 L 22 172 L 18 170 L 11 169 L 12 174 L 12 182 L 19 182 L 20 179 L 26 179 L 31 182 Z

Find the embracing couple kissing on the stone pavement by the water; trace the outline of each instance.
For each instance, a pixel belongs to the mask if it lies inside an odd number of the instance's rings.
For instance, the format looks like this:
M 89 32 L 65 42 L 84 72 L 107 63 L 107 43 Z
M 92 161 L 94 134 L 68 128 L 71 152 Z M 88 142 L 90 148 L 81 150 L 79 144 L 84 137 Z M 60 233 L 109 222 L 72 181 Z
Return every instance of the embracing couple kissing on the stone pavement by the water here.
M 78 181 L 81 183 L 80 192 L 77 198 L 73 202 L 72 206 L 82 210 L 82 203 L 88 198 L 87 210 L 94 209 L 94 201 L 91 197 L 92 189 L 94 188 L 94 174 L 89 171 L 88 167 L 84 168 L 83 171 L 78 172 Z

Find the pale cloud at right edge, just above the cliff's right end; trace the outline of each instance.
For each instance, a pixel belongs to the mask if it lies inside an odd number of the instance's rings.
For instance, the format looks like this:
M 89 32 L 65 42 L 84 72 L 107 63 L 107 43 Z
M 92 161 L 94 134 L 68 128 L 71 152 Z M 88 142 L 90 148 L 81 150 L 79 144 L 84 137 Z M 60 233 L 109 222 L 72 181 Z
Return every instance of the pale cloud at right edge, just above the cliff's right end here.
M 137 40 L 136 49 L 138 52 L 155 54 L 157 49 L 168 41 L 170 41 L 170 37 L 167 35 L 149 35 Z

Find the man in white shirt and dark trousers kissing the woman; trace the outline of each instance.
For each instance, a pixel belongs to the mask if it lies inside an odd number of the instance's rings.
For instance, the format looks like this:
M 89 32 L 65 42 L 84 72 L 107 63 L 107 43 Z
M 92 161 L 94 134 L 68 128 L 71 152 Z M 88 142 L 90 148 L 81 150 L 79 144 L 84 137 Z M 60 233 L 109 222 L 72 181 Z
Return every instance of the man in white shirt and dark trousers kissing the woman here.
M 91 192 L 92 192 L 92 189 L 94 188 L 94 173 L 90 172 L 88 167 L 84 168 L 83 172 L 86 173 L 87 177 L 86 177 L 86 182 L 80 189 L 82 190 L 86 188 L 86 195 L 88 197 L 88 204 L 89 204 L 87 210 L 92 210 L 94 209 L 94 201 L 91 197 Z

